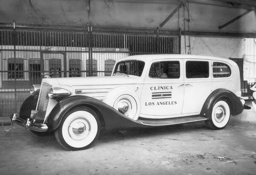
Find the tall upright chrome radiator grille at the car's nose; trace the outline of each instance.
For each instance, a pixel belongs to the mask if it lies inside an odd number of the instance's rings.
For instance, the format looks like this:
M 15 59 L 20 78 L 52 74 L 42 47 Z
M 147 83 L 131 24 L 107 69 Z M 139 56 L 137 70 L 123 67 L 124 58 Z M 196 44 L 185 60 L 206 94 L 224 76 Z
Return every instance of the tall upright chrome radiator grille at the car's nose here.
M 36 105 L 36 111 L 38 111 L 37 115 L 36 115 L 37 121 L 40 121 L 40 122 L 44 121 L 47 105 L 49 102 L 48 93 L 51 88 L 52 88 L 52 86 L 48 85 L 48 84 L 42 84 L 42 86 L 41 86 L 40 93 L 38 96 L 37 105 Z

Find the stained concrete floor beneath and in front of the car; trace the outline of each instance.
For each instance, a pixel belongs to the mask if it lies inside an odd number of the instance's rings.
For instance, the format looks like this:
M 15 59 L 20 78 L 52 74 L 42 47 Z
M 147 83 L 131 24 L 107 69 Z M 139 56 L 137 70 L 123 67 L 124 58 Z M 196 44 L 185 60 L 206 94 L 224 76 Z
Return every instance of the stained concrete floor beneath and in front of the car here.
M 0 174 L 256 174 L 255 110 L 223 130 L 199 122 L 111 131 L 76 152 L 15 126 L 0 131 Z

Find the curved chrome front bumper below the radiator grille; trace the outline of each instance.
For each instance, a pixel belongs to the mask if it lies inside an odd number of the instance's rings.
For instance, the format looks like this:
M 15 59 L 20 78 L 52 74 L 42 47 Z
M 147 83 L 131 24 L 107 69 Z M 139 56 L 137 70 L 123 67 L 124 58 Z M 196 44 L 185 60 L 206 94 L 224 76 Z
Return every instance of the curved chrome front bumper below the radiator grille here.
M 29 130 L 37 131 L 37 132 L 46 132 L 48 127 L 46 124 L 35 123 L 30 121 L 29 118 L 27 120 L 23 120 L 19 118 L 15 113 L 10 116 L 12 123 L 17 123 L 20 126 L 27 128 Z

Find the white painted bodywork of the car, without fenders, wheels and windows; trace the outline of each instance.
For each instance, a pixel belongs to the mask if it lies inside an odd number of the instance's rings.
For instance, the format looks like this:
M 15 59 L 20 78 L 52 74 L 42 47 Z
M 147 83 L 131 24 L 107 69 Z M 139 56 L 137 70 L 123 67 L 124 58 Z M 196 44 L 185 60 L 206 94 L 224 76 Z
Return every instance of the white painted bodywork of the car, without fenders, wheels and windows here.
M 138 96 L 137 103 L 140 106 L 138 116 L 150 119 L 176 118 L 179 116 L 198 115 L 206 98 L 212 91 L 225 88 L 234 94 L 241 95 L 239 81 L 239 69 L 235 62 L 210 56 L 199 55 L 136 55 L 129 56 L 118 62 L 126 60 L 141 60 L 145 62 L 145 70 L 138 76 L 112 76 L 110 77 L 79 77 L 79 78 L 58 78 L 43 79 L 43 82 L 53 87 L 61 87 L 69 90 L 72 95 L 90 96 L 100 101 L 105 101 L 109 91 L 122 87 L 130 89 Z M 181 66 L 179 79 L 155 79 L 150 78 L 149 68 L 154 62 L 179 61 Z M 210 65 L 209 78 L 186 78 L 186 61 L 207 61 Z M 118 63 L 117 62 L 117 63 Z M 222 62 L 232 69 L 230 77 L 213 78 L 213 62 Z M 84 88 L 85 87 L 85 88 Z M 80 93 L 78 91 L 81 90 Z M 170 91 L 172 96 L 168 99 L 152 99 L 152 93 Z M 116 98 L 111 96 L 110 98 Z M 54 106 L 47 107 L 47 113 L 51 112 Z M 113 106 L 111 106 L 113 107 Z M 138 116 L 132 118 L 137 120 Z

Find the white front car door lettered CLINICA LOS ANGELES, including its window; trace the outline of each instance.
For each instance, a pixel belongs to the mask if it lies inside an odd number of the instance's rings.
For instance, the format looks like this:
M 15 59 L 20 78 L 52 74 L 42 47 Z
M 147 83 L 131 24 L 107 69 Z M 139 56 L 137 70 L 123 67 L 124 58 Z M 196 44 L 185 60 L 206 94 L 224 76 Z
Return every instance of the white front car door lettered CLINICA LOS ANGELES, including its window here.
M 141 95 L 141 117 L 161 119 L 181 114 L 184 94 L 181 70 L 183 61 L 179 59 L 150 63 Z

